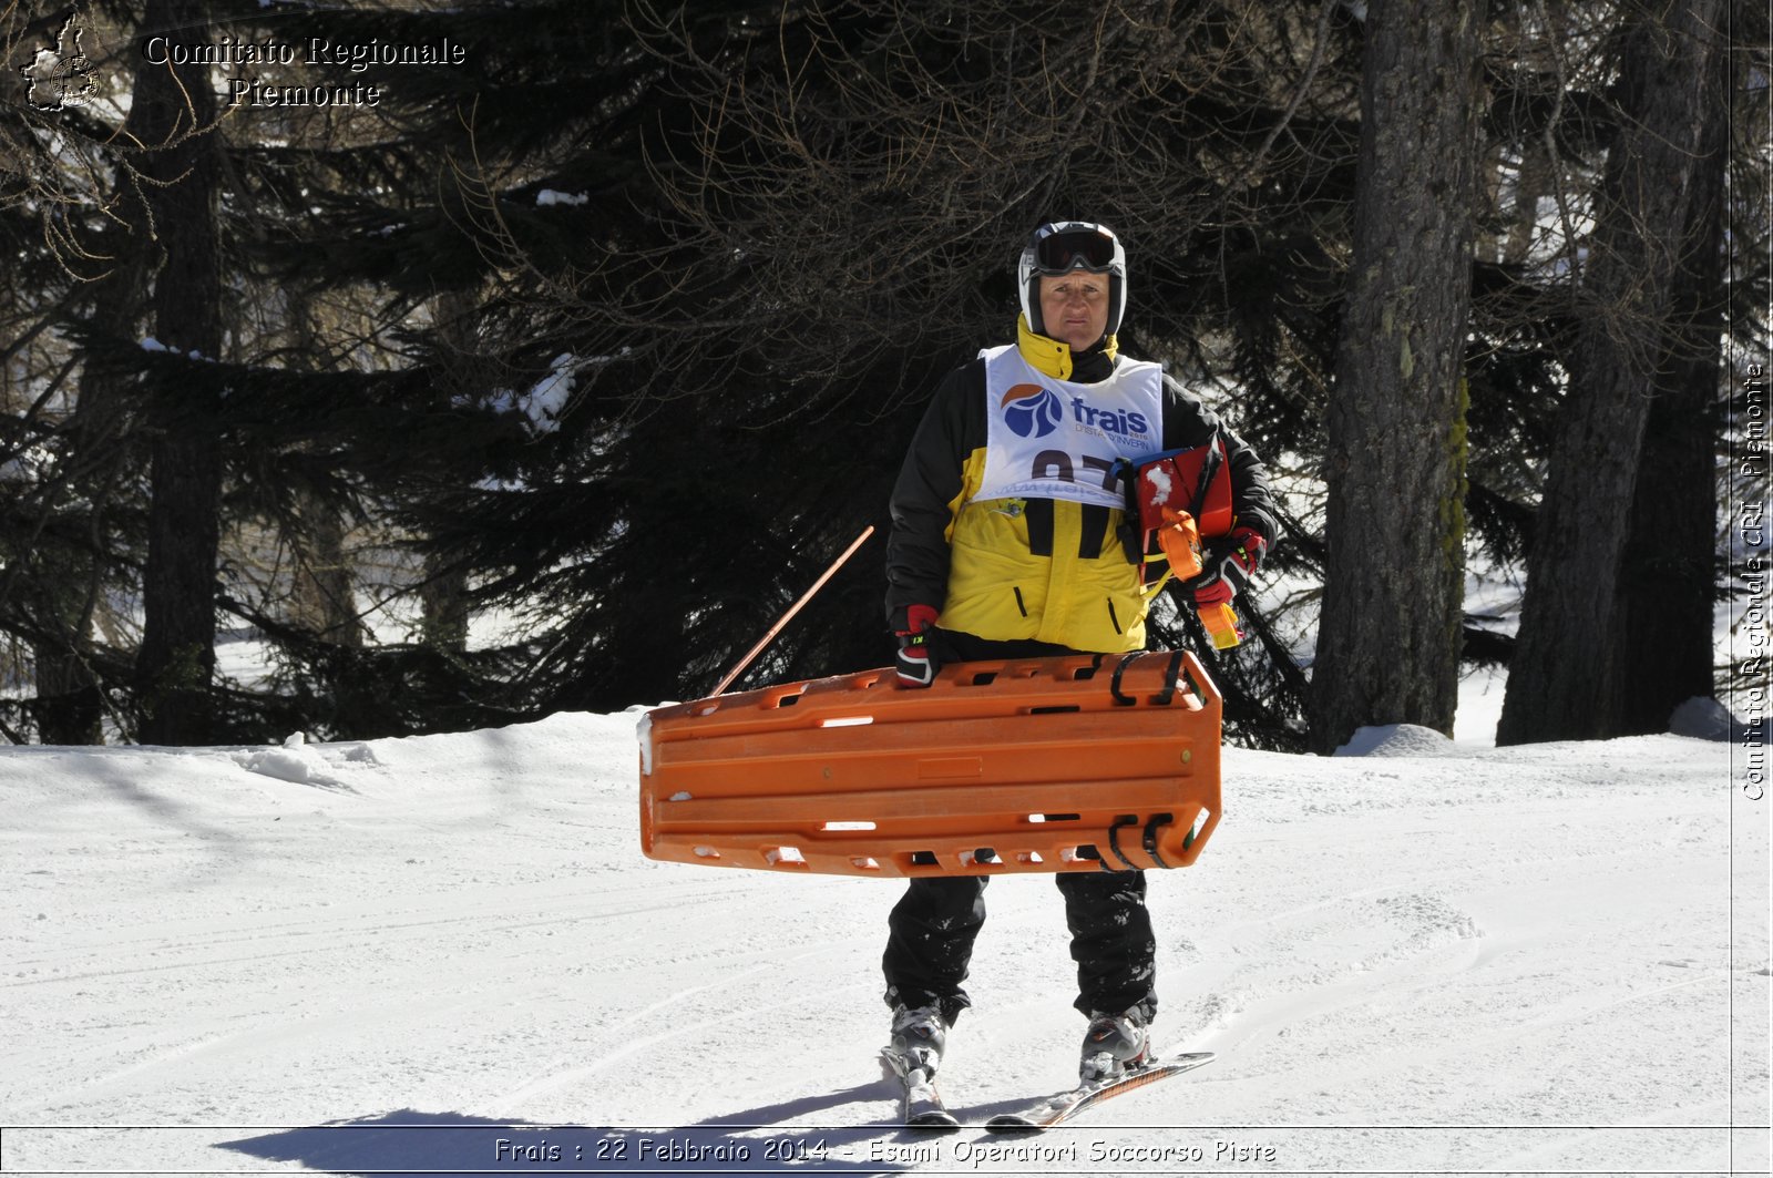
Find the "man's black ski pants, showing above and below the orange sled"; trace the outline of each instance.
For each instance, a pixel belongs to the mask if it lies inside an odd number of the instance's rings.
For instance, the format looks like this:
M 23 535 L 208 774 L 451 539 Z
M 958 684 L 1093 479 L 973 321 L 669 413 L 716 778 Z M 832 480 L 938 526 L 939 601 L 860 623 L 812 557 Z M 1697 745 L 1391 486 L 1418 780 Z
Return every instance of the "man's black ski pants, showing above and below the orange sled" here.
M 931 649 L 943 664 L 979 658 L 1069 655 L 1041 642 L 989 642 L 938 630 Z M 1144 871 L 1060 871 L 1053 876 L 1066 898 L 1071 960 L 1078 965 L 1074 1006 L 1085 1015 L 1121 1013 L 1145 1004 L 1156 1013 L 1158 942 L 1145 910 Z M 952 1024 L 970 1006 L 966 990 L 973 940 L 986 921 L 989 876 L 920 876 L 886 917 L 881 969 L 886 1004 L 941 1006 Z

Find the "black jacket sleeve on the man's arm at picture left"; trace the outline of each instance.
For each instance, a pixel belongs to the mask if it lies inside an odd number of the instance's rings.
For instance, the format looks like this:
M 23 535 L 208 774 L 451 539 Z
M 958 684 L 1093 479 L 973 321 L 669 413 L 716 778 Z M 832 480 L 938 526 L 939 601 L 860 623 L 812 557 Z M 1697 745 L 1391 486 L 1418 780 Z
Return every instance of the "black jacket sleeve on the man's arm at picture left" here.
M 984 445 L 986 362 L 949 373 L 929 401 L 892 490 L 886 536 L 886 626 L 904 630 L 911 605 L 940 610 L 949 596 L 950 507 L 966 456 Z

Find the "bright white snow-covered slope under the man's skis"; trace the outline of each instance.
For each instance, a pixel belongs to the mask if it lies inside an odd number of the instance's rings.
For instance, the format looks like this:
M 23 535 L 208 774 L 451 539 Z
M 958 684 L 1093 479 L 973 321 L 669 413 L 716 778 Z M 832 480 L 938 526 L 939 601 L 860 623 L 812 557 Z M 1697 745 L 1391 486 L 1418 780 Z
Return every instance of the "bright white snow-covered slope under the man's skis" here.
M 644 859 L 637 719 L 0 749 L 0 1173 L 1768 1173 L 1773 802 L 1727 742 L 1229 750 L 1151 876 L 1160 1043 L 1218 1061 L 910 1137 L 899 885 Z M 988 898 L 968 1119 L 1082 1034 L 1051 876 Z

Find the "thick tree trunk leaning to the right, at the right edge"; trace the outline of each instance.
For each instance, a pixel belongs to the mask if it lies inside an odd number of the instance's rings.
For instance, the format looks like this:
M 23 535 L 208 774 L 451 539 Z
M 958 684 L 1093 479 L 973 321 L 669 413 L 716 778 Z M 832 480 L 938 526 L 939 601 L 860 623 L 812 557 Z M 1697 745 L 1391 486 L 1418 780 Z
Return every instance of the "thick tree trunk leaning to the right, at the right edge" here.
M 1645 428 L 1668 383 L 1672 291 L 1702 199 L 1720 20 L 1720 0 L 1674 0 L 1624 34 L 1619 130 L 1596 193 L 1571 385 L 1527 555 L 1498 743 L 1621 733 L 1622 569 Z

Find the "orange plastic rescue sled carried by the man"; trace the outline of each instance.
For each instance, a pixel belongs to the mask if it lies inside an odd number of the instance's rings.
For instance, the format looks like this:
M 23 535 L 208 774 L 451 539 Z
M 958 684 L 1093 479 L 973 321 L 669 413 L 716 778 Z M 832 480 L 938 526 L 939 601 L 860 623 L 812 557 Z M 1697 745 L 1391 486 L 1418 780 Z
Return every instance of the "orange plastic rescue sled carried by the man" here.
M 892 671 L 654 708 L 652 859 L 830 875 L 1186 868 L 1220 816 L 1220 695 L 1184 651 Z

